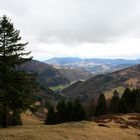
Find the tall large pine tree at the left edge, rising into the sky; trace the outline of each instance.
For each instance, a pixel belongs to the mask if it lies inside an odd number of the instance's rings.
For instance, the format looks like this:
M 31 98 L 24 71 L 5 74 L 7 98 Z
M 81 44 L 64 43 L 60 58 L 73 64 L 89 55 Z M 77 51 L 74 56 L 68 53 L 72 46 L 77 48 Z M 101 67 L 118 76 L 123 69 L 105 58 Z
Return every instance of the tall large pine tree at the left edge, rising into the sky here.
M 18 72 L 17 66 L 30 61 L 25 52 L 28 43 L 21 43 L 19 31 L 7 16 L 0 18 L 0 106 L 2 127 L 9 112 L 21 112 L 30 106 L 34 75 Z

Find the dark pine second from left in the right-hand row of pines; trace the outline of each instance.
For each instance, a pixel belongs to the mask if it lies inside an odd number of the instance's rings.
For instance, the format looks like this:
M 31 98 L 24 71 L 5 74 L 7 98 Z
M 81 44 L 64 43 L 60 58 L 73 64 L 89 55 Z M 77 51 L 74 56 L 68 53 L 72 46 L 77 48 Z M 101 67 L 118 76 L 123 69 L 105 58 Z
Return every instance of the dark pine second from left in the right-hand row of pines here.
M 120 97 L 118 92 L 115 90 L 109 104 L 109 113 L 119 112 Z

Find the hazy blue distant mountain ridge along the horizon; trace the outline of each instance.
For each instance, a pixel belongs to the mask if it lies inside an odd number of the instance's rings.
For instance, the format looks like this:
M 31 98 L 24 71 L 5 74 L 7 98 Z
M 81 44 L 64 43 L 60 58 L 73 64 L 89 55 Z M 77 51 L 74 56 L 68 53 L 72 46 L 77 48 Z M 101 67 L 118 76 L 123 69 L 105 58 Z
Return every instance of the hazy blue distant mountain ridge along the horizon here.
M 90 72 L 92 74 L 102 74 L 127 68 L 140 64 L 140 59 L 128 60 L 128 59 L 81 59 L 81 58 L 52 58 L 44 61 L 55 67 L 67 68 L 67 69 L 79 69 Z

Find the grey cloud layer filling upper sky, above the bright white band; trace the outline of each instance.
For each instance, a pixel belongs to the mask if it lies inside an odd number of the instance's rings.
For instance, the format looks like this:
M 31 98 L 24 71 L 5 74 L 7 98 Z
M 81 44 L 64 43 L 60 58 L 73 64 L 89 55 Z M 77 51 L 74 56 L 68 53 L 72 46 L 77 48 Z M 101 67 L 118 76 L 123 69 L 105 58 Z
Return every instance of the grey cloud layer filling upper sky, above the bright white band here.
M 38 42 L 109 42 L 140 36 L 139 0 L 0 0 L 25 36 Z

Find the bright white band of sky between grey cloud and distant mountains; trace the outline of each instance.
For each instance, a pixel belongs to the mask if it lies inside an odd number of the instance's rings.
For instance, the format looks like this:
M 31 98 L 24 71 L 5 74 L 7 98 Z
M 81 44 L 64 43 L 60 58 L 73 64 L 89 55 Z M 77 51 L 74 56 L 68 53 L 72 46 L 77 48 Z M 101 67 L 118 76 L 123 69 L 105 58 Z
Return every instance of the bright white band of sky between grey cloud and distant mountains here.
M 36 44 L 37 45 L 37 44 Z M 34 44 L 35 46 L 35 44 Z M 80 57 L 80 58 L 140 58 L 140 40 L 124 39 L 113 43 L 82 43 L 82 44 L 38 44 L 32 48 L 36 59 L 45 60 L 52 57 Z

